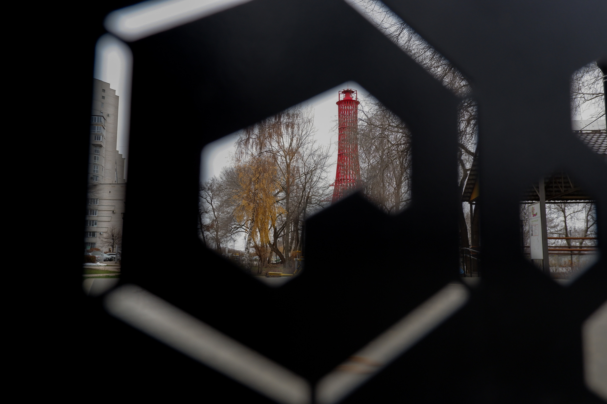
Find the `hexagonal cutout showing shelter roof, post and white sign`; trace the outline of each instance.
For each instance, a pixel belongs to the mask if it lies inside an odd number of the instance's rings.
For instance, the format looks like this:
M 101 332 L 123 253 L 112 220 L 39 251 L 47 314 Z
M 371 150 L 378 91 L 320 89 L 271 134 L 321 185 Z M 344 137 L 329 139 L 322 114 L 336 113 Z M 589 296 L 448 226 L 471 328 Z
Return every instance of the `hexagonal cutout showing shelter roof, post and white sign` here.
M 531 184 L 520 219 L 523 255 L 552 279 L 574 279 L 599 258 L 594 198 L 568 173 Z

